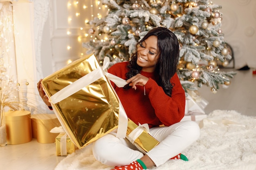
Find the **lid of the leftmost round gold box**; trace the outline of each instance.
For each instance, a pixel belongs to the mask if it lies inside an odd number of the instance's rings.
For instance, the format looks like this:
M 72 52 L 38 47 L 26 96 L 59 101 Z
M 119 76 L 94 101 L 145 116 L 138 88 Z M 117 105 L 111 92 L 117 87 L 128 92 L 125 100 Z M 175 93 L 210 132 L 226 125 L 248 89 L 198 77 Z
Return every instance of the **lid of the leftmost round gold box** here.
M 5 113 L 5 121 L 20 121 L 30 119 L 30 112 L 27 110 L 14 110 Z

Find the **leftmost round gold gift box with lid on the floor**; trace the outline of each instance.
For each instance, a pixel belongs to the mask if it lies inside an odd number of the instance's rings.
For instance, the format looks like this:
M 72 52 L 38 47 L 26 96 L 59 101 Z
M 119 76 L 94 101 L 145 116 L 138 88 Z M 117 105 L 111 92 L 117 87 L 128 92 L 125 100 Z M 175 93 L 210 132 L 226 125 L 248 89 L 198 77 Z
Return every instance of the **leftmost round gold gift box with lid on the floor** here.
M 32 140 L 30 112 L 15 110 L 5 113 L 8 144 L 24 144 Z

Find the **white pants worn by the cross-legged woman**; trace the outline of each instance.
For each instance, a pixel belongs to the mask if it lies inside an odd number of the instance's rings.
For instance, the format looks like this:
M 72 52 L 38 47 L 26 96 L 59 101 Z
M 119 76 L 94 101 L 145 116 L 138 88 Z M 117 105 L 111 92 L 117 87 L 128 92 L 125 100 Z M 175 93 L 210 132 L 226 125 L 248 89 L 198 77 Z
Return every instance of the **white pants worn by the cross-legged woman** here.
M 180 154 L 200 136 L 200 128 L 194 121 L 181 121 L 168 127 L 153 127 L 149 131 L 160 142 L 146 153 L 156 166 Z M 128 139 L 117 138 L 116 130 L 97 139 L 92 152 L 95 159 L 109 166 L 125 166 L 144 155 Z

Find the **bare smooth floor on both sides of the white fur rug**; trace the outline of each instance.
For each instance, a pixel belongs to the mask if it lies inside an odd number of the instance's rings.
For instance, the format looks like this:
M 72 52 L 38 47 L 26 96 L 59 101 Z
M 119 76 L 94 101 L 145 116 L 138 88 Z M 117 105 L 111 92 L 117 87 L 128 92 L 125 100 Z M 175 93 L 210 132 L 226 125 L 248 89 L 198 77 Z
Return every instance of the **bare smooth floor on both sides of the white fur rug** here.
M 236 71 L 228 88 L 220 87 L 216 94 L 204 86 L 198 91 L 209 104 L 205 113 L 213 110 L 236 110 L 243 115 L 256 116 L 256 75 L 252 69 Z M 40 144 L 36 139 L 0 148 L 1 170 L 54 170 L 58 162 L 65 156 L 56 156 L 55 144 Z

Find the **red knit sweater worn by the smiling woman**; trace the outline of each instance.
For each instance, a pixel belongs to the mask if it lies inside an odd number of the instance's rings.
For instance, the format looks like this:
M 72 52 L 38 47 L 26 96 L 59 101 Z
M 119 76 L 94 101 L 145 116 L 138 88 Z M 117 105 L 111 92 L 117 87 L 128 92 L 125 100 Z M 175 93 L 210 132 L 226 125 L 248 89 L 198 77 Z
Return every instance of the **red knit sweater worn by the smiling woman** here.
M 127 64 L 128 62 L 114 64 L 108 72 L 127 79 Z M 162 124 L 170 126 L 179 122 L 184 117 L 185 93 L 177 73 L 170 80 L 175 84 L 172 97 L 166 95 L 163 88 L 157 85 L 153 73 L 141 71 L 141 75 L 149 78 L 145 85 L 146 95 L 143 86 L 136 86 L 136 90 L 124 89 L 111 82 L 127 116 L 137 125 L 147 123 L 150 128 Z

